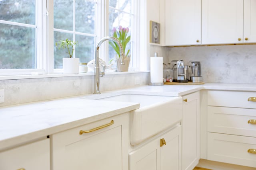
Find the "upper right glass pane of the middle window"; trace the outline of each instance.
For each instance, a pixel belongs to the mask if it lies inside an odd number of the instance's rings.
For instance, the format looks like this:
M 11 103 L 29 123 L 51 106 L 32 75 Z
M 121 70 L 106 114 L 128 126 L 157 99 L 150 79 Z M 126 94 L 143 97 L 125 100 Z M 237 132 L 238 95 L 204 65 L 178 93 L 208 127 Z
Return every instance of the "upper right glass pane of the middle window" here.
M 76 0 L 76 31 L 94 34 L 95 3 Z

